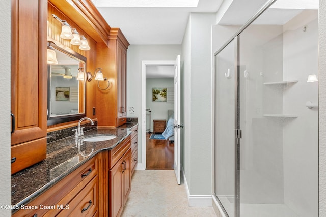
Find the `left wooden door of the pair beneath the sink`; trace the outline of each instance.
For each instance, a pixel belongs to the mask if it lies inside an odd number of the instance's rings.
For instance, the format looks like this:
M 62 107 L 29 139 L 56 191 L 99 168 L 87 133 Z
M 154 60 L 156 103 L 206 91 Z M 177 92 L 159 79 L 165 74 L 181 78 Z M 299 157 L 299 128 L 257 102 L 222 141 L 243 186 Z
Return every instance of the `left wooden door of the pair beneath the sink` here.
M 122 171 L 124 168 L 123 158 L 109 171 L 110 180 L 110 216 L 120 216 L 123 209 L 123 187 L 122 187 Z

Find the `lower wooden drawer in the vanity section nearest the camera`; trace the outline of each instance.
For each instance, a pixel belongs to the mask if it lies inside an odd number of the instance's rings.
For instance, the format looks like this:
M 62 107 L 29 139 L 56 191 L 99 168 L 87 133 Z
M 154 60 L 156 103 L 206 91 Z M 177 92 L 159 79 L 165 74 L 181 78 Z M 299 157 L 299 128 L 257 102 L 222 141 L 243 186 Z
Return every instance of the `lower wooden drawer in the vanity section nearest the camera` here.
M 95 176 L 57 216 L 93 216 L 98 210 L 98 176 Z

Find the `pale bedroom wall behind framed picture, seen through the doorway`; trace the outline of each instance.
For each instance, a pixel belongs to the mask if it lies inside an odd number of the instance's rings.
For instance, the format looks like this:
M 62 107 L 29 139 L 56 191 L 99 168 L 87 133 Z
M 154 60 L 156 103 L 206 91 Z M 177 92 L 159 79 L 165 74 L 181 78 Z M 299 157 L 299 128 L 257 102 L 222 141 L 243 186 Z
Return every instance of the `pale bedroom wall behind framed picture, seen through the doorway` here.
M 172 68 L 174 71 L 174 68 Z M 153 102 L 153 87 L 174 87 L 174 79 L 172 78 L 148 78 L 146 79 L 146 109 L 150 108 L 151 112 L 151 132 L 153 132 L 153 120 L 167 120 L 168 121 L 168 110 L 174 110 L 174 103 L 167 102 Z M 147 119 L 148 121 L 149 119 Z M 146 129 L 148 129 L 148 124 Z

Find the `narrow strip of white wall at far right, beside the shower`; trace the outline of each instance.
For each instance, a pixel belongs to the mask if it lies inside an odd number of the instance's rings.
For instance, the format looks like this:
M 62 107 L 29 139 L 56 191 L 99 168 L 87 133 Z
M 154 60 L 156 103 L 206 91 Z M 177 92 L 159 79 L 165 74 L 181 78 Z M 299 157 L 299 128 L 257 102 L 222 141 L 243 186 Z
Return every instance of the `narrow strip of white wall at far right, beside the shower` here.
M 319 1 L 319 216 L 326 216 L 326 1 Z

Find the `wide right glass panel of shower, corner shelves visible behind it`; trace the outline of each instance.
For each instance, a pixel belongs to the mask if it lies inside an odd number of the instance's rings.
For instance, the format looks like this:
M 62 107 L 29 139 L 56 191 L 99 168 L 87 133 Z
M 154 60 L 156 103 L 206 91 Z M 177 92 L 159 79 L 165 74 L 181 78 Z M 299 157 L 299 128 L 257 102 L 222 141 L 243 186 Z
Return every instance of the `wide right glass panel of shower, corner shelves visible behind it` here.
M 318 12 L 294 11 L 239 35 L 241 217 L 318 216 Z

